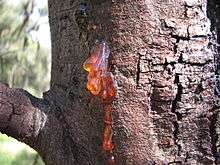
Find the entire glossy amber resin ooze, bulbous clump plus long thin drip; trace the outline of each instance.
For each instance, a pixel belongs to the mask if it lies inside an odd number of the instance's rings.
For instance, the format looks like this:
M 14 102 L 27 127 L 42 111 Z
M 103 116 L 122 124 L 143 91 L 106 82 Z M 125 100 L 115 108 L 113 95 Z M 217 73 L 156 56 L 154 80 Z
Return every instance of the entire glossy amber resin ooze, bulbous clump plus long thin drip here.
M 95 46 L 90 57 L 84 62 L 83 68 L 88 72 L 86 88 L 94 95 L 101 98 L 104 104 L 104 133 L 102 148 L 107 153 L 107 163 L 115 165 L 113 156 L 114 144 L 112 142 L 112 101 L 116 96 L 116 87 L 113 75 L 108 71 L 108 57 L 110 54 L 106 42 Z

